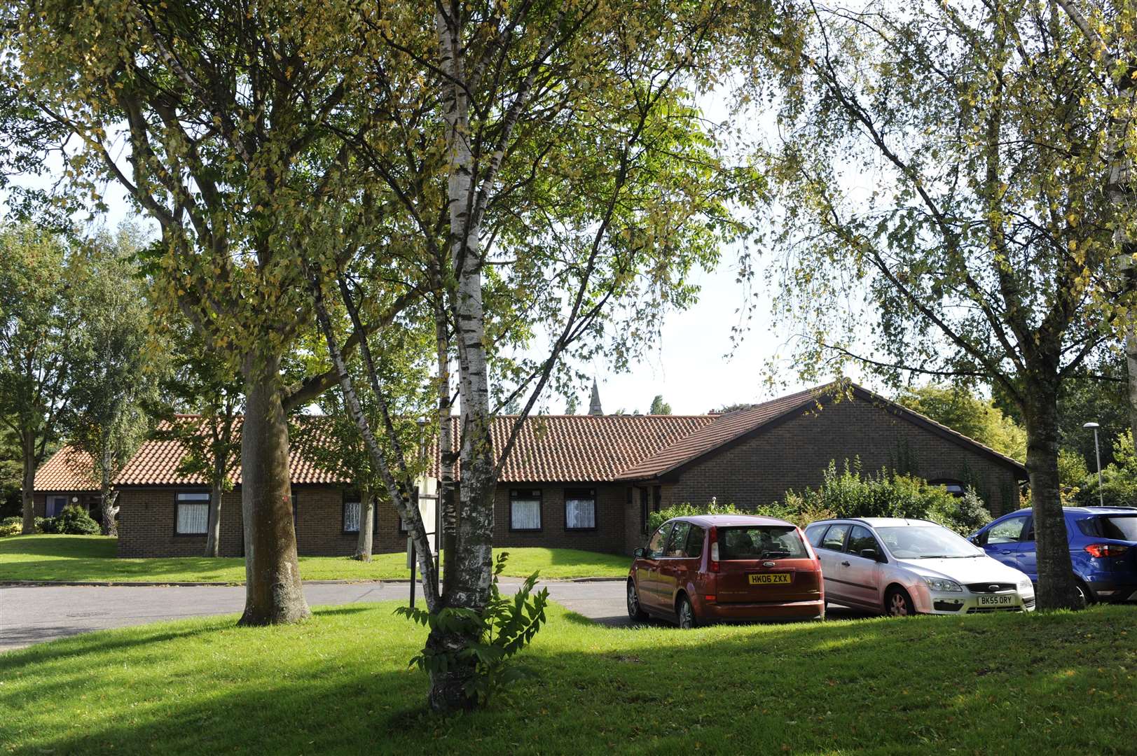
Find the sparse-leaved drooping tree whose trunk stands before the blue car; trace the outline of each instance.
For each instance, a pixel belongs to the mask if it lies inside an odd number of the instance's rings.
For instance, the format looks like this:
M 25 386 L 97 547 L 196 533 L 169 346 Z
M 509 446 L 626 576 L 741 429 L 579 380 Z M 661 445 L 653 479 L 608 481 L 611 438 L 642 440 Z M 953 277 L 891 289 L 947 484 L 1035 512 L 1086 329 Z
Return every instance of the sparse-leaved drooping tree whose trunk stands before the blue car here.
M 811 337 L 799 357 L 995 384 L 1027 431 L 1039 606 L 1078 606 L 1057 399 L 1132 304 L 1087 43 L 1055 6 L 1002 1 L 816 9 L 815 30 L 769 164 L 792 251 L 783 311 Z M 865 300 L 868 335 L 841 306 Z

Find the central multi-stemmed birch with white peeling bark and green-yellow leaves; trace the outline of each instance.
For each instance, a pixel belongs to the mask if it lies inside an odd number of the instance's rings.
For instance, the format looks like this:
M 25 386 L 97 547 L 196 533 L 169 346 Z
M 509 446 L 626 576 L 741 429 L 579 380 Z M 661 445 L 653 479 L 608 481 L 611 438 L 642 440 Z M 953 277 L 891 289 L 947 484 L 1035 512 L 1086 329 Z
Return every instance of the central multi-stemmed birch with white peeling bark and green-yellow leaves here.
M 728 207 L 761 182 L 725 164 L 692 102 L 692 91 L 733 60 L 741 20 L 769 31 L 786 18 L 754 3 L 447 0 L 366 19 L 380 42 L 367 77 L 385 131 L 346 141 L 416 232 L 409 244 L 383 250 L 405 256 L 410 285 L 434 307 L 439 366 L 451 359 L 443 357 L 449 344 L 457 364 L 456 548 L 441 596 L 429 559 L 420 562 L 431 612 L 485 606 L 497 479 L 564 357 L 605 351 L 626 364 L 662 311 L 694 300 L 688 272 L 716 261 L 720 244 L 746 232 Z M 325 291 L 339 289 L 347 310 L 355 307 L 335 283 L 343 246 L 302 243 L 315 258 L 313 296 L 347 407 L 422 549 L 423 524 L 401 493 L 406 455 L 392 442 L 385 458 L 375 438 L 390 433 L 387 389 L 362 350 L 385 426 L 373 429 L 329 315 Z M 549 344 L 541 356 L 511 359 L 511 349 L 539 338 Z M 491 375 L 507 385 L 491 392 Z M 439 384 L 445 427 L 449 391 Z M 495 443 L 491 421 L 514 401 L 520 412 Z M 472 705 L 467 650 L 476 642 L 460 628 L 432 630 L 425 654 L 454 659 L 432 673 L 432 708 Z

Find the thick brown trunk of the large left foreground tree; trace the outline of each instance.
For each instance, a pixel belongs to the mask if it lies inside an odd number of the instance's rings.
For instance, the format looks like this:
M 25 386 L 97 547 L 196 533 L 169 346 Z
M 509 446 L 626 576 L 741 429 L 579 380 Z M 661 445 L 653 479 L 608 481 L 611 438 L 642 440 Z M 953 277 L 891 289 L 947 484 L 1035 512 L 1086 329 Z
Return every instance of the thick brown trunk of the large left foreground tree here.
M 308 617 L 292 522 L 288 422 L 282 405 L 280 355 L 254 352 L 243 366 L 241 515 L 244 520 L 242 625 Z

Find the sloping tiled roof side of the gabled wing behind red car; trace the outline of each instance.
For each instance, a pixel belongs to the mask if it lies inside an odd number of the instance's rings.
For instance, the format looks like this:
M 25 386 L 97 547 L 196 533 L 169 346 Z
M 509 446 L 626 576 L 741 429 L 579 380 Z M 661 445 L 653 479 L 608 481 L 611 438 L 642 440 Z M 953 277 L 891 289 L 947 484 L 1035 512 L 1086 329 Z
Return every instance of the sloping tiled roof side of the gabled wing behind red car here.
M 825 387 L 822 387 L 824 389 Z M 819 389 L 808 389 L 757 405 L 749 409 L 740 409 L 727 415 L 719 415 L 713 422 L 704 425 L 690 435 L 653 455 L 644 462 L 625 467 L 616 480 L 644 480 L 655 477 L 674 470 L 691 459 L 717 449 L 740 435 L 749 433 L 775 417 L 800 408 L 805 410 L 815 405 L 820 397 Z

